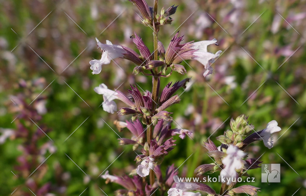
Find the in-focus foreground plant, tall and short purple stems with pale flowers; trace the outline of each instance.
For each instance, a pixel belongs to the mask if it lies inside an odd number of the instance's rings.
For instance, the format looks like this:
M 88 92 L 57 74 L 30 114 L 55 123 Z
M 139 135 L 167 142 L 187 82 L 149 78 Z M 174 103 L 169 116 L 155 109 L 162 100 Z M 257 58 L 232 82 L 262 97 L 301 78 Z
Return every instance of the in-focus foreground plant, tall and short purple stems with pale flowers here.
M 140 163 L 137 168 L 130 173 L 130 176 L 110 175 L 108 171 L 102 175 L 106 183 L 115 182 L 125 189 L 116 191 L 117 195 L 152 195 L 159 189 L 161 195 L 201 195 L 200 192 L 206 192 L 208 195 L 217 195 L 206 184 L 180 182 L 178 180 L 178 171 L 174 165 L 168 166 L 166 172 L 161 170 L 161 164 L 166 155 L 174 148 L 174 135 L 179 135 L 181 139 L 186 136 L 191 137 L 192 131 L 186 129 L 176 129 L 171 127 L 171 112 L 167 111 L 171 105 L 180 102 L 181 98 L 175 92 L 181 87 L 185 88 L 190 78 L 177 81 L 174 84 L 170 82 L 160 93 L 160 80 L 163 77 L 170 77 L 173 71 L 180 74 L 187 73 L 184 66 L 180 65 L 185 60 L 196 60 L 200 62 L 206 71 L 203 76 L 206 77 L 213 73 L 211 63 L 218 58 L 221 51 L 215 54 L 207 52 L 208 45 L 217 44 L 216 39 L 206 41 L 189 41 L 182 43 L 183 36 L 179 37 L 177 32 L 171 39 L 167 49 L 158 40 L 160 27 L 171 24 L 174 19 L 170 16 L 176 12 L 177 6 L 170 6 L 168 9 L 161 9 L 158 14 L 158 0 L 154 0 L 154 6 L 149 7 L 145 0 L 129 0 L 132 2 L 141 14 L 141 22 L 153 30 L 153 52 L 145 45 L 139 34 L 136 32 L 131 36 L 133 43 L 140 54 L 133 49 L 113 45 L 110 41 L 106 44 L 100 42 L 97 38 L 97 45 L 102 51 L 101 59 L 91 60 L 90 69 L 93 74 L 99 74 L 103 65 L 110 64 L 115 58 L 123 58 L 135 64 L 133 73 L 143 74 L 152 77 L 152 90 L 145 91 L 142 94 L 136 84 L 131 84 L 131 89 L 127 95 L 119 90 L 110 90 L 105 84 L 100 84 L 94 88 L 94 91 L 103 95 L 103 110 L 109 113 L 118 111 L 119 116 L 131 115 L 130 120 L 125 122 L 115 121 L 115 125 L 121 131 L 125 127 L 132 133 L 132 137 L 120 138 L 119 144 L 132 144 L 133 151 L 140 151 L 135 158 L 136 163 Z M 174 95 L 175 94 L 175 95 Z M 114 100 L 119 99 L 126 104 L 126 107 L 117 108 Z M 248 144 L 263 140 L 265 146 L 273 147 L 271 134 L 280 130 L 277 122 L 271 121 L 267 128 L 253 134 L 253 127 L 247 122 L 247 117 L 241 115 L 236 120 L 230 122 L 231 130 L 227 130 L 223 135 L 216 139 L 222 144 L 216 147 L 214 142 L 208 138 L 204 142 L 204 147 L 208 150 L 208 155 L 214 158 L 214 163 L 203 164 L 195 169 L 197 175 L 205 172 L 220 171 L 222 180 L 220 195 L 237 195 L 247 193 L 256 195 L 258 187 L 243 185 L 236 187 L 237 178 L 247 175 L 247 170 L 258 168 L 261 162 L 258 159 L 246 159 L 247 153 L 244 152 Z M 147 180 L 146 176 L 149 176 Z

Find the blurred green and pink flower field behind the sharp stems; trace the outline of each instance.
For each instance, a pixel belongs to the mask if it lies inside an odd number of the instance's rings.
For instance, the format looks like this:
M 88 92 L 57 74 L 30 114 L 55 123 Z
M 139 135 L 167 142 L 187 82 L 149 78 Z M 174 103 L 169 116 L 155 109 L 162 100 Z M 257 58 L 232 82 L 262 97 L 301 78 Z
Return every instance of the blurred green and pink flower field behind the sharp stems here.
M 95 37 L 136 50 L 129 38 L 135 31 L 153 51 L 151 28 L 139 23 L 127 0 L 0 2 L 1 194 L 113 195 L 121 186 L 105 184 L 100 174 L 129 174 L 136 153 L 118 145 L 119 136 L 131 135 L 118 132 L 117 114 L 99 107 L 103 98 L 93 88 L 105 83 L 127 94 L 136 83 L 151 91 L 151 78 L 132 75 L 134 65 L 124 59 L 92 75 L 89 61 L 101 58 Z M 282 130 L 274 148 L 257 141 L 247 151 L 263 163 L 281 164 L 281 182 L 261 183 L 261 169 L 253 169 L 251 185 L 261 187 L 262 196 L 306 195 L 306 2 L 165 0 L 159 10 L 173 4 L 179 5 L 174 21 L 159 32 L 165 48 L 179 30 L 186 42 L 216 38 L 219 46 L 208 51 L 223 53 L 209 77 L 199 62 L 186 61 L 187 74 L 161 79 L 163 88 L 192 77 L 170 112 L 174 128 L 194 132 L 192 139 L 175 136 L 162 169 L 174 164 L 180 176 L 195 177 L 197 166 L 212 162 L 203 141 L 211 136 L 220 145 L 215 137 L 230 129 L 231 118 L 249 116 L 256 131 L 275 119 Z

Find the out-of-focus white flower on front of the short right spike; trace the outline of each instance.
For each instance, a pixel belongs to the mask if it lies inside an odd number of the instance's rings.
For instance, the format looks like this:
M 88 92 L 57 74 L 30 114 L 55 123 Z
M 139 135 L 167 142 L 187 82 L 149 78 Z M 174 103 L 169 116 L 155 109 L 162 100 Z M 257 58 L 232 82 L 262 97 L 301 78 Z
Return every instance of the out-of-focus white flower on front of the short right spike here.
M 236 146 L 230 145 L 226 150 L 226 154 L 226 157 L 222 159 L 222 163 L 225 167 L 220 172 L 220 177 L 221 179 L 225 178 L 226 184 L 230 185 L 233 179 L 238 177 L 236 169 L 241 169 L 243 167 L 241 159 L 246 153 L 239 150 Z

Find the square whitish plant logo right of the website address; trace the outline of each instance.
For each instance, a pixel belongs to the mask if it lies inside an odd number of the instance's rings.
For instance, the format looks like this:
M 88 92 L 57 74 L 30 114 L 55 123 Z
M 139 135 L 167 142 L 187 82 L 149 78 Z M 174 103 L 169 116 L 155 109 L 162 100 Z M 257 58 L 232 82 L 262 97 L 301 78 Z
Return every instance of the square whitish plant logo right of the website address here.
M 281 164 L 261 164 L 261 182 L 281 182 Z

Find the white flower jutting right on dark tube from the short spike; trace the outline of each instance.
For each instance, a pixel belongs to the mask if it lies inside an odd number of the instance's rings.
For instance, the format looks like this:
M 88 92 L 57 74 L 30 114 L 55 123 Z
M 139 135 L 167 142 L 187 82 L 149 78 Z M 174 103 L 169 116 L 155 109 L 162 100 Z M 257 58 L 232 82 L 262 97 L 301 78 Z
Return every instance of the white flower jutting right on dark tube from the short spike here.
M 261 137 L 260 140 L 263 140 L 265 146 L 269 149 L 273 147 L 273 137 L 271 134 L 282 130 L 280 127 L 277 126 L 276 120 L 272 120 L 267 124 L 267 127 L 259 134 Z

